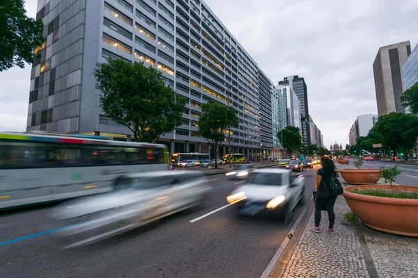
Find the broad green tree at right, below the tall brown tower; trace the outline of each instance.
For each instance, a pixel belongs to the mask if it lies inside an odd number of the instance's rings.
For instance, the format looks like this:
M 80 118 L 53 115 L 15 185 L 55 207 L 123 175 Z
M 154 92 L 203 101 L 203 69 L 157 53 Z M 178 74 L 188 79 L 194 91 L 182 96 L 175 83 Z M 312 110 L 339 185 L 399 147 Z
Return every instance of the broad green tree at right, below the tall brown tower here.
M 379 117 L 374 131 L 384 134 L 382 144 L 400 150 L 408 160 L 408 153 L 418 139 L 418 117 L 412 114 L 392 112 Z

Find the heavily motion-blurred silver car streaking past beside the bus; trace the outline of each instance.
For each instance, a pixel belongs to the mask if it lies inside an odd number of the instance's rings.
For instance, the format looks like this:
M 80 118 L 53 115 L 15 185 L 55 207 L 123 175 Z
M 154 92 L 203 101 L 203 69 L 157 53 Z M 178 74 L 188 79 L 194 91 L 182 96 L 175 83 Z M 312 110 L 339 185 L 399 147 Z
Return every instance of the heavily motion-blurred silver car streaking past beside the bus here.
M 199 172 L 129 174 L 116 179 L 109 193 L 59 205 L 53 217 L 77 221 L 60 236 L 70 240 L 68 247 L 84 245 L 201 203 L 209 189 L 205 183 Z

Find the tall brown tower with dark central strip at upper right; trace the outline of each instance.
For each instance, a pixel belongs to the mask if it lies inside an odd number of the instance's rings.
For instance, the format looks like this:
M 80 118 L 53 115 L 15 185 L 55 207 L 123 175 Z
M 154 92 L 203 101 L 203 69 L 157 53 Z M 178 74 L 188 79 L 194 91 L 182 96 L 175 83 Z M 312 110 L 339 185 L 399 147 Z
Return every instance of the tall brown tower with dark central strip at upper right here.
M 405 88 L 402 65 L 410 53 L 411 46 L 408 41 L 380 47 L 376 55 L 373 72 L 379 116 L 391 112 L 406 112 L 401 102 L 401 95 Z

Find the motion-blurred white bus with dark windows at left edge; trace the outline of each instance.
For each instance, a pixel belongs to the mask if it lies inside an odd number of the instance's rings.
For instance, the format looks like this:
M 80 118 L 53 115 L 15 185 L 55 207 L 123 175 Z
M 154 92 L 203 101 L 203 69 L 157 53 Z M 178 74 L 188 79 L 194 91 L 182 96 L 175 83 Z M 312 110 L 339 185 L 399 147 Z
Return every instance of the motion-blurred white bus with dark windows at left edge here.
M 103 193 L 121 174 L 168 168 L 165 145 L 100 139 L 0 133 L 0 208 Z

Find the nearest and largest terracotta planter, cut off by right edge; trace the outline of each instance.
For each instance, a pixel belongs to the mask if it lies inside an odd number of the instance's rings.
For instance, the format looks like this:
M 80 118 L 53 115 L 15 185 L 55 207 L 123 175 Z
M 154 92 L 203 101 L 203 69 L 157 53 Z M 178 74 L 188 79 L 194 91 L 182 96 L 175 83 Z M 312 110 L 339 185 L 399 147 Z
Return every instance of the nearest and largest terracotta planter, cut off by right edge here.
M 372 229 L 403 236 L 418 236 L 418 199 L 375 197 L 351 193 L 353 190 L 390 190 L 389 185 L 344 188 L 348 206 L 363 224 Z M 396 191 L 415 191 L 418 186 L 394 186 Z

